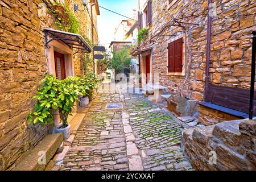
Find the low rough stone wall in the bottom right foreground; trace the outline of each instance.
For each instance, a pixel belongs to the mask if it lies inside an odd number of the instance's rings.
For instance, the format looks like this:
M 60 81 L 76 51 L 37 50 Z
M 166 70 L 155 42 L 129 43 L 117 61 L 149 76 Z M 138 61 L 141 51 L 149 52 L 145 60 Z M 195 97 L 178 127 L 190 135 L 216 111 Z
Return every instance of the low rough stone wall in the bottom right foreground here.
M 196 170 L 256 170 L 255 142 L 256 120 L 236 120 L 185 129 L 182 148 Z

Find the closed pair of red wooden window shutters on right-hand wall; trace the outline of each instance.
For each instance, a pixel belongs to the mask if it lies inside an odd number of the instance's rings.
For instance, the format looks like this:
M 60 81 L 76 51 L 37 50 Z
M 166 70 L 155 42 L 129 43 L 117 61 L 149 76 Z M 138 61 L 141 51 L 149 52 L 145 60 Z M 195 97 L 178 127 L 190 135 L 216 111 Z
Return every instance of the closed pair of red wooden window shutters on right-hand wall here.
M 183 72 L 183 38 L 168 43 L 168 73 Z

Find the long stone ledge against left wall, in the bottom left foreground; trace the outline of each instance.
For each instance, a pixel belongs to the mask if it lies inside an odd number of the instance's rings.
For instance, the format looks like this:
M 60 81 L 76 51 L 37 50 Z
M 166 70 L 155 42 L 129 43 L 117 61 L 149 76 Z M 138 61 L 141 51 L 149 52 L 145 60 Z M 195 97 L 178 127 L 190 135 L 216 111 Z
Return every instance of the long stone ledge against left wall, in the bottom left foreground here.
M 27 155 L 13 170 L 44 171 L 53 155 L 56 154 L 56 151 L 60 147 L 61 143 L 63 143 L 62 134 L 58 133 L 47 135 L 46 138 L 39 142 L 34 148 L 28 150 Z M 43 162 L 44 159 L 45 163 Z M 39 164 L 39 162 L 43 162 L 43 164 Z

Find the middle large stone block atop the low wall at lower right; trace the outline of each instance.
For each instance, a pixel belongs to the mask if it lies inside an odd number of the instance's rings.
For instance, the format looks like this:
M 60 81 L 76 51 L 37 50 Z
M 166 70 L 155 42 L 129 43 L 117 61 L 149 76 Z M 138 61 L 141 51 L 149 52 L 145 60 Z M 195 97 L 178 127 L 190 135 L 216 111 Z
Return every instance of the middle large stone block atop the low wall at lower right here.
M 224 143 L 237 146 L 240 144 L 241 139 L 241 133 L 239 131 L 241 122 L 241 120 L 235 120 L 218 123 L 214 126 L 213 135 L 223 140 Z

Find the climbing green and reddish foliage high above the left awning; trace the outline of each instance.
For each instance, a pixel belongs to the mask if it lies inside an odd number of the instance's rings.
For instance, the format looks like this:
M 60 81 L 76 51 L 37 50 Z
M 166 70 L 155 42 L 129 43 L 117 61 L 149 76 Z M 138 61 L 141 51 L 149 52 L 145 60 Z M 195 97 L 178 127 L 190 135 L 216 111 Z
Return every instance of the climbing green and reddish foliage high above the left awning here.
M 56 18 L 55 24 L 60 30 L 72 32 L 74 34 L 79 33 L 79 21 L 65 3 L 63 5 L 59 2 L 53 2 L 53 9 L 51 9 L 53 15 Z

